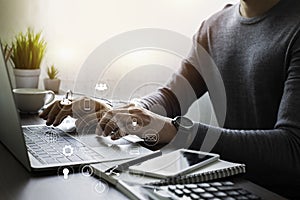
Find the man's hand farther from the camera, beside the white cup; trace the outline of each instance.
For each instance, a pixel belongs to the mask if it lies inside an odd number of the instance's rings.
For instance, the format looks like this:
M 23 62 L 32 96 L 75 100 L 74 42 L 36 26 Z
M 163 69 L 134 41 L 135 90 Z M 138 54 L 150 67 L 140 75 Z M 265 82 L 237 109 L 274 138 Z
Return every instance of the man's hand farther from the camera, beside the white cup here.
M 111 110 L 111 107 L 105 103 L 82 97 L 72 101 L 69 105 L 63 105 L 61 101 L 56 101 L 41 112 L 39 116 L 47 120 L 47 125 L 58 126 L 67 116 L 71 116 L 82 122 L 86 116 L 101 117 L 97 113 L 109 110 Z M 100 118 L 97 119 L 100 120 Z

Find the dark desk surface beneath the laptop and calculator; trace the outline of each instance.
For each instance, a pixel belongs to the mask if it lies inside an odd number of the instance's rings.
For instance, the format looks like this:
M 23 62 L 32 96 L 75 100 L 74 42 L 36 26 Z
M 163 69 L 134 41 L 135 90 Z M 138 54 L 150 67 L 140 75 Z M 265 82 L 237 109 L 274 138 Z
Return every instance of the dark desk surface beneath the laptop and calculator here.
M 22 116 L 23 124 L 40 124 L 43 121 L 33 116 Z M 64 180 L 62 176 L 30 174 L 0 143 L 0 199 L 36 200 L 36 199 L 127 199 L 115 188 L 95 177 L 85 177 L 80 173 L 72 174 Z M 264 199 L 282 199 L 246 180 L 238 184 Z

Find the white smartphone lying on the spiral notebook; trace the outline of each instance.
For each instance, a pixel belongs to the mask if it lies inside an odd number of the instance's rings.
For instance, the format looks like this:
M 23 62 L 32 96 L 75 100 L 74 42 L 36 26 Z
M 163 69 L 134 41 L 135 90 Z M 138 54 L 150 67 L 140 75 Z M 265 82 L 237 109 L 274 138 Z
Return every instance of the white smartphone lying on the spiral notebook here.
M 158 178 L 184 175 L 219 159 L 218 154 L 179 149 L 129 167 L 129 172 Z

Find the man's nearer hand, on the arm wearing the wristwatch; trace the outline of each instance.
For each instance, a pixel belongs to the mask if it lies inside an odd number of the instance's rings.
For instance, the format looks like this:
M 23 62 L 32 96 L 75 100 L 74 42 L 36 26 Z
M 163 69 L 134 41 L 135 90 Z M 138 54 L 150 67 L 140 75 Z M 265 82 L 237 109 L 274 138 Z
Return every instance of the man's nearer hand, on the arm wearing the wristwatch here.
M 103 113 L 96 129 L 98 135 L 111 136 L 113 140 L 127 134 L 141 138 L 147 137 L 147 134 L 156 134 L 158 143 L 170 142 L 176 132 L 170 118 L 136 107 L 134 104 Z

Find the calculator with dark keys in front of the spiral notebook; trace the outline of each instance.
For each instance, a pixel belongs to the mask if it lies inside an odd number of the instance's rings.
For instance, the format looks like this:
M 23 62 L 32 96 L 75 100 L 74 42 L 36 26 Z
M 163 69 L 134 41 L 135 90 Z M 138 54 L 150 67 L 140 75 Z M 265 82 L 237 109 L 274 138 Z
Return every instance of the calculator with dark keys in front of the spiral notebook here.
M 259 200 L 259 196 L 236 186 L 231 181 L 161 186 L 178 199 Z

